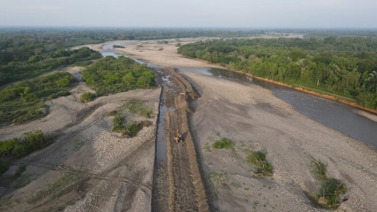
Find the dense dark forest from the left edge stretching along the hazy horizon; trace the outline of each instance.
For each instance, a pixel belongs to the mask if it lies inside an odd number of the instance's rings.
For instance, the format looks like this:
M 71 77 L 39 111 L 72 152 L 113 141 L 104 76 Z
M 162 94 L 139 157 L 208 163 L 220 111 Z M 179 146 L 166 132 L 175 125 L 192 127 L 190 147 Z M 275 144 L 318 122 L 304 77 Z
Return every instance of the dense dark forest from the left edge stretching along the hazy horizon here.
M 152 40 L 198 36 L 250 36 L 261 30 L 0 28 L 0 85 L 36 77 L 54 68 L 100 58 L 88 48 L 68 47 L 112 40 Z

